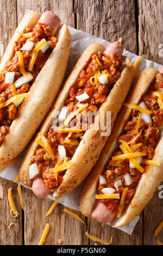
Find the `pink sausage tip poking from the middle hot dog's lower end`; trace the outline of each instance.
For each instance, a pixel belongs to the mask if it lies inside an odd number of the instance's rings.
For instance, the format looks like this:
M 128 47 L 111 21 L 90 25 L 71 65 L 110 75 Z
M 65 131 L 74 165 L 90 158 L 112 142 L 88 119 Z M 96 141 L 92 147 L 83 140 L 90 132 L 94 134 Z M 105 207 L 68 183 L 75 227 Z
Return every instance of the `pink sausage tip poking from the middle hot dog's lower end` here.
M 49 189 L 43 183 L 42 179 L 38 176 L 34 178 L 32 190 L 35 196 L 39 198 L 46 198 L 50 192 Z

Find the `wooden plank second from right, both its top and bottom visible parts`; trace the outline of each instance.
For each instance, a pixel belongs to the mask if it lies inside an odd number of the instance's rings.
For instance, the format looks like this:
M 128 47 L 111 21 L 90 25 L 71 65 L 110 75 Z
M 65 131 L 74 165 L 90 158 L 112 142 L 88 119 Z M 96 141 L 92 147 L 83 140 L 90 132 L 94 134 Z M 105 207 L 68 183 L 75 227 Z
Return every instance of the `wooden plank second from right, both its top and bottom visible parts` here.
M 110 42 L 123 38 L 124 47 L 136 53 L 136 22 L 134 1 L 75 1 L 77 29 L 99 36 Z M 88 218 L 87 231 L 105 241 L 113 235 L 113 245 L 141 245 L 142 217 L 137 223 L 132 236 L 108 225 Z M 94 242 L 90 241 L 93 245 Z

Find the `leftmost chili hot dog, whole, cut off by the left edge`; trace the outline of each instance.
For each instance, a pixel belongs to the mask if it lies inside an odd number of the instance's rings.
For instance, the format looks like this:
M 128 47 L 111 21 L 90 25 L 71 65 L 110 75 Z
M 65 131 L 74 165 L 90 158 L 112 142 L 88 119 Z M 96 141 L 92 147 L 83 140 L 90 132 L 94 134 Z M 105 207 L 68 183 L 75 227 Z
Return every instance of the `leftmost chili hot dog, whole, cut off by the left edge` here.
M 0 65 L 0 164 L 14 159 L 40 126 L 64 78 L 70 33 L 52 11 L 18 25 Z

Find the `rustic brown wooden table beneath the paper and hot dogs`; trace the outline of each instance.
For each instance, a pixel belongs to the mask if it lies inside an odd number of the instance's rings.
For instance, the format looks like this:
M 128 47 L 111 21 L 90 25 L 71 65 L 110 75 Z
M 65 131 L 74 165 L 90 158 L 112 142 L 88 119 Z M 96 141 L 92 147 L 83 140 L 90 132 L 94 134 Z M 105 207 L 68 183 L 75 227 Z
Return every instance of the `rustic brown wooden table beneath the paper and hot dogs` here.
M 162 64 L 163 58 L 159 57 L 158 53 L 159 44 L 163 43 L 161 38 L 163 3 L 161 2 L 161 0 L 1 0 L 0 42 L 3 47 L 0 54 L 3 56 L 3 51 L 26 9 L 39 13 L 53 10 L 62 22 L 92 35 L 111 42 L 122 36 L 127 50 Z M 93 245 L 94 242 L 85 236 L 86 230 L 106 241 L 109 240 L 110 235 L 113 235 L 112 245 L 156 245 L 153 231 L 163 217 L 161 209 L 163 199 L 158 198 L 159 191 L 156 191 L 153 199 L 140 215 L 133 234 L 128 235 L 79 214 L 85 222 L 83 225 L 63 212 L 62 205 L 57 205 L 53 214 L 45 217 L 52 201 L 38 199 L 24 187 L 22 188 L 24 212 L 22 212 L 17 196 L 17 184 L 2 178 L 0 184 L 4 190 L 4 198 L 0 200 L 1 245 L 37 245 L 47 222 L 51 225 L 51 230 L 46 245 L 58 245 L 58 239 L 61 239 L 64 245 Z M 17 218 L 12 218 L 9 214 L 9 187 L 12 188 L 20 212 Z M 8 225 L 11 222 L 14 222 L 14 228 L 9 230 Z M 160 240 L 162 234 L 163 232 L 158 235 Z

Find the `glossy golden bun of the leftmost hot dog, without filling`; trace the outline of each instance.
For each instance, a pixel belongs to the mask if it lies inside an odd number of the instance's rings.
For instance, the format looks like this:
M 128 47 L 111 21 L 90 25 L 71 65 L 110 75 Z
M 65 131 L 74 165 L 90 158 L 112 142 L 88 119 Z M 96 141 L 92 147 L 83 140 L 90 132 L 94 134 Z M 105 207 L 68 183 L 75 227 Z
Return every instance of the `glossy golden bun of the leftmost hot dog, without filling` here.
M 16 31 L 23 32 L 26 27 L 34 27 L 40 16 L 39 13 L 29 13 L 23 18 Z M 12 36 L 0 65 L 0 72 L 14 56 L 14 42 L 19 36 L 16 32 Z M 65 24 L 60 26 L 55 36 L 58 38 L 57 46 L 37 75 L 28 92 L 28 97 L 24 99 L 0 147 L 0 165 L 14 159 L 26 147 L 60 89 L 70 53 L 70 32 L 67 26 Z

